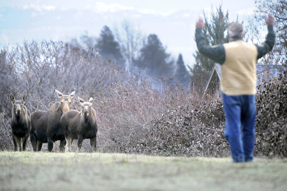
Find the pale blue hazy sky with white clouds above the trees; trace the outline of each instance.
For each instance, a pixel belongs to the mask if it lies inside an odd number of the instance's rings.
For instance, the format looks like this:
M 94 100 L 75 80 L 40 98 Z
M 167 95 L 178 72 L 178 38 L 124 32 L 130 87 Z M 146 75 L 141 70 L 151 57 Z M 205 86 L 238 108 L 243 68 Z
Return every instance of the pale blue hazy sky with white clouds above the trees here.
M 236 20 L 247 19 L 255 10 L 253 0 L 1 0 L 0 48 L 32 39 L 70 41 L 88 33 L 99 36 L 104 25 L 114 31 L 126 19 L 146 36 L 157 34 L 174 60 L 183 55 L 193 64 L 195 23 L 198 17 L 222 2 L 224 12 Z M 245 22 L 247 23 L 247 22 Z

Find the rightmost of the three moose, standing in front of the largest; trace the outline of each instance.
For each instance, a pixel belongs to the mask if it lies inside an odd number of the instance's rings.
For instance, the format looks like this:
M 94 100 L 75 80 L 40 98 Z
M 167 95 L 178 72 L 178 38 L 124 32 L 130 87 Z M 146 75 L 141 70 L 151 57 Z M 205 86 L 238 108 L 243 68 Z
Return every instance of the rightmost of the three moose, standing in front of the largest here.
M 78 97 L 82 105 L 81 111 L 70 110 L 64 113 L 61 117 L 62 126 L 64 129 L 67 145 L 65 146 L 66 152 L 71 152 L 71 144 L 74 139 L 78 139 L 78 149 L 81 149 L 84 139 L 90 139 L 93 151 L 96 151 L 97 146 L 97 117 L 96 111 L 91 108 L 93 98 L 89 102 L 84 102 Z

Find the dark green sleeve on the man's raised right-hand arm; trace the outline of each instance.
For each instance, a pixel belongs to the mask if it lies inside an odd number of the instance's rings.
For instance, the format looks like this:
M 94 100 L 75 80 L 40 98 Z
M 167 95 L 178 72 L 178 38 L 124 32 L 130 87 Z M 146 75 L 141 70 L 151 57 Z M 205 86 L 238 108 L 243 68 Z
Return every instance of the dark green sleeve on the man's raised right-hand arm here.
M 258 50 L 257 59 L 261 58 L 267 54 L 274 46 L 275 43 L 275 32 L 273 30 L 273 25 L 268 25 L 268 34 L 264 45 L 256 45 Z

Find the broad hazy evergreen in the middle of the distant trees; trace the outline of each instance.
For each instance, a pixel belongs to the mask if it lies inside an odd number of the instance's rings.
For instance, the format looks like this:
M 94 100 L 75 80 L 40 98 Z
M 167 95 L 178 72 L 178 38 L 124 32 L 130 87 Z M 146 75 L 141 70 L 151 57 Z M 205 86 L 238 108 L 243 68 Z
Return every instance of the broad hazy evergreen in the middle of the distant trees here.
M 133 67 L 152 78 L 172 77 L 174 61 L 170 60 L 170 54 L 165 50 L 157 35 L 150 34 L 147 41 L 143 42 L 140 55 L 134 60 Z

